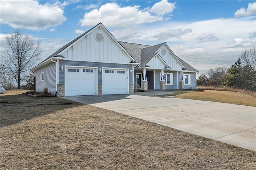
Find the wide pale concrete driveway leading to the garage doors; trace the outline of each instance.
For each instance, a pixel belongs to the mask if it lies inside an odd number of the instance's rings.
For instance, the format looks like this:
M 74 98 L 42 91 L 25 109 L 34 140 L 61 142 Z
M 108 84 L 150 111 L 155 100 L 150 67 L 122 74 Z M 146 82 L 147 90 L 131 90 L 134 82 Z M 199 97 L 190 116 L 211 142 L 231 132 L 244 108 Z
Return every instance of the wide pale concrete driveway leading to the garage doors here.
M 63 98 L 256 151 L 256 107 L 143 95 Z

